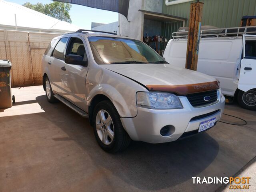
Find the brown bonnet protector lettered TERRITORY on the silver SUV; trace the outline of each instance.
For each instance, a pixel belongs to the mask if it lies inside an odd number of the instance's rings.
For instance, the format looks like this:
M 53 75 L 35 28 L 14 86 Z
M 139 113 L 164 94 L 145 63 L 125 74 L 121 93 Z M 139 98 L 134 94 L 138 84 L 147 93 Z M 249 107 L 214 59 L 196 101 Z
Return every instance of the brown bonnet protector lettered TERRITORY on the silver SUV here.
M 146 85 L 151 91 L 172 92 L 178 95 L 187 95 L 198 92 L 216 90 L 220 88 L 217 81 L 186 84 L 186 85 Z

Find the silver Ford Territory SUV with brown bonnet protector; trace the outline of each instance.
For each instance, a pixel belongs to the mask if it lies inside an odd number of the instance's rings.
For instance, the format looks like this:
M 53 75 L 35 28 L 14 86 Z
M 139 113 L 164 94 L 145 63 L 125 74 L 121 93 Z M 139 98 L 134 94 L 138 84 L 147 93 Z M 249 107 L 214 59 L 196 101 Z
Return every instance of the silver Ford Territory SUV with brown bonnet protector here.
M 139 40 L 78 30 L 54 38 L 42 58 L 49 102 L 90 119 L 100 147 L 171 142 L 213 127 L 225 98 L 215 78 L 169 64 Z

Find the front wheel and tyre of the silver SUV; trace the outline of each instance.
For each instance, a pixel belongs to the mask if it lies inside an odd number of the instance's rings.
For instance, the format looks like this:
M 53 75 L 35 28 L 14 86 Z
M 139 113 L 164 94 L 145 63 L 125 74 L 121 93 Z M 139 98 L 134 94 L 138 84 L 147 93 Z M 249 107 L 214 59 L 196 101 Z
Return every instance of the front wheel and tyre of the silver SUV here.
M 130 144 L 130 137 L 122 126 L 119 114 L 108 100 L 95 106 L 93 126 L 95 138 L 106 152 L 119 152 Z

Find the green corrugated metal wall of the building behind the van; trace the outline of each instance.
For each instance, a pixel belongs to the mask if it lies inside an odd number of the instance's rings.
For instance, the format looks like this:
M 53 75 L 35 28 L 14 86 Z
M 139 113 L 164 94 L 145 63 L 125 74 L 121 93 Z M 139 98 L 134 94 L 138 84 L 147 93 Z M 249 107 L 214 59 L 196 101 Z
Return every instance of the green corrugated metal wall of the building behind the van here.
M 164 1 L 163 13 L 189 19 L 192 2 L 166 6 Z M 204 3 L 202 25 L 212 25 L 219 28 L 238 27 L 242 16 L 256 15 L 256 0 L 200 0 L 200 2 Z M 176 32 L 179 26 L 166 23 L 165 36 L 170 36 L 172 32 Z M 186 26 L 188 26 L 188 21 Z M 170 34 L 168 35 L 168 33 Z

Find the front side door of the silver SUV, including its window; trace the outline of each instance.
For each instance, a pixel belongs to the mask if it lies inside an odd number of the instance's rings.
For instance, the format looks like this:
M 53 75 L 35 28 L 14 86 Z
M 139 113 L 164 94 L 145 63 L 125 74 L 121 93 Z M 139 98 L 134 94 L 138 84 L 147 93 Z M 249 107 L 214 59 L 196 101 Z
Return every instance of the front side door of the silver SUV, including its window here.
M 87 48 L 84 38 L 76 35 L 71 36 L 65 55 L 80 55 L 84 60 L 88 60 L 86 52 Z M 65 70 L 60 76 L 61 87 L 65 92 L 63 96 L 84 110 L 86 110 L 85 86 L 88 67 L 63 63 L 62 68 Z

